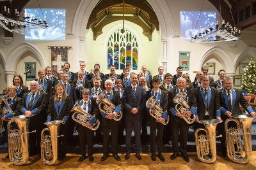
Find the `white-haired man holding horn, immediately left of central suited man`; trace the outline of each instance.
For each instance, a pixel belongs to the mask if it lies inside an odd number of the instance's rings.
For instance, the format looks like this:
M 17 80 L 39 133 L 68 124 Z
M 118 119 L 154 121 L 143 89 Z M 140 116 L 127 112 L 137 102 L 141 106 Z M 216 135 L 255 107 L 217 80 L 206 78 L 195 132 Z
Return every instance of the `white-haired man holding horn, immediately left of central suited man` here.
M 103 157 L 100 159 L 101 161 L 104 161 L 108 158 L 109 153 L 109 130 L 111 132 L 111 150 L 113 153 L 113 157 L 116 160 L 121 160 L 118 156 L 118 149 L 117 149 L 117 143 L 118 143 L 118 125 L 121 123 L 120 120 L 116 121 L 113 118 L 115 115 L 120 115 L 120 111 L 123 108 L 122 101 L 120 99 L 120 95 L 115 90 L 112 90 L 113 88 L 113 81 L 106 80 L 105 81 L 105 97 L 111 101 L 112 104 L 115 105 L 115 111 L 113 113 L 104 113 L 101 112 L 102 115 L 102 132 L 103 132 Z

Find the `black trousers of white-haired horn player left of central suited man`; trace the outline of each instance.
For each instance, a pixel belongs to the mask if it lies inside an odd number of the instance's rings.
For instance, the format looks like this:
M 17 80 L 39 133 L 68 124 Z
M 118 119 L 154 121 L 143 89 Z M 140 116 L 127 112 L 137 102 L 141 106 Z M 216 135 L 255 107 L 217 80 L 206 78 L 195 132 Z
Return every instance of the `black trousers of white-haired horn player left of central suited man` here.
M 111 151 L 113 154 L 118 153 L 117 143 L 118 143 L 118 125 L 107 124 L 106 126 L 102 126 L 103 132 L 103 154 L 108 155 L 109 150 L 109 130 L 111 132 Z

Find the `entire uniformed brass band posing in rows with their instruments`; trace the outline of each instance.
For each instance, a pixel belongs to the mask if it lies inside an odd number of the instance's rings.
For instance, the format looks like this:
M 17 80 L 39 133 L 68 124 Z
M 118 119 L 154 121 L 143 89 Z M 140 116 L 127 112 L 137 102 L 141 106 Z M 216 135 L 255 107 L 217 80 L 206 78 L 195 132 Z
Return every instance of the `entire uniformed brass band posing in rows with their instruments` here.
M 51 75 L 51 67 L 45 67 L 38 71 L 39 78 L 30 82 L 30 90 L 24 86 L 22 76 L 13 77 L 13 85 L 1 96 L 1 120 L 13 164 L 26 164 L 36 153 L 45 164 L 63 160 L 68 146 L 74 144 L 76 130 L 81 151 L 78 162 L 87 157 L 93 162 L 93 143 L 102 145 L 100 160 L 108 159 L 109 141 L 116 160 L 120 160 L 118 144 L 122 143 L 126 146 L 124 159 L 134 151 L 141 160 L 141 143 L 147 143 L 148 123 L 152 161 L 158 157 L 164 162 L 163 143 L 170 143 L 170 159 L 180 155 L 189 162 L 189 126 L 195 130 L 197 156 L 202 162 L 216 160 L 218 137 L 224 157 L 242 164 L 251 159 L 250 127 L 256 113 L 241 90 L 232 87 L 232 80 L 223 69 L 214 81 L 207 76 L 208 67 L 203 66 L 191 81 L 182 67 L 172 75 L 164 74 L 164 67 L 160 66 L 156 76 L 148 73 L 147 66 L 142 66 L 139 74 L 132 73 L 129 63 L 121 75 L 115 73 L 114 65 L 108 74 L 100 73 L 99 64 L 90 72 L 85 68 L 81 62 L 80 70 L 72 73 L 70 64 L 65 63 L 56 78 Z

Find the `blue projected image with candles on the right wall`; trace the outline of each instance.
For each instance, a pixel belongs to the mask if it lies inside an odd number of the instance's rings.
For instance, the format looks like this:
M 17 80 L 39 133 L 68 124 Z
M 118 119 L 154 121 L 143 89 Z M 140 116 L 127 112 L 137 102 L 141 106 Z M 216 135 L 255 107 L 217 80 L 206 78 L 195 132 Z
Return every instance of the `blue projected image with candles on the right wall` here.
M 204 32 L 205 27 L 209 29 L 211 25 L 216 25 L 216 12 L 202 11 L 200 15 L 200 11 L 180 11 L 180 39 L 190 40 L 200 29 Z

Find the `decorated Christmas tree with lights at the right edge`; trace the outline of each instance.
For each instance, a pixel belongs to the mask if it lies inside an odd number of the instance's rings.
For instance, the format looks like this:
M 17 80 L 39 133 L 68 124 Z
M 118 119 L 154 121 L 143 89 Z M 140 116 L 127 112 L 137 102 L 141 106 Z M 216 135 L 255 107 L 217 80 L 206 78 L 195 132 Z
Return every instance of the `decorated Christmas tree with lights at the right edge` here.
M 243 90 L 247 91 L 247 94 L 256 94 L 256 64 L 252 60 L 248 64 L 246 70 L 244 71 L 243 78 Z

